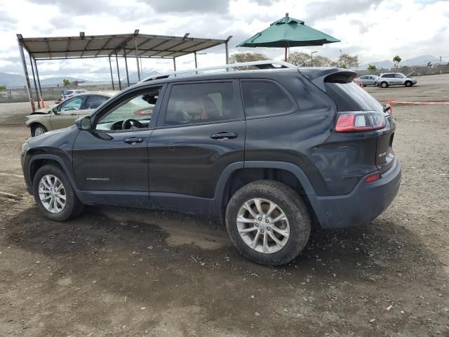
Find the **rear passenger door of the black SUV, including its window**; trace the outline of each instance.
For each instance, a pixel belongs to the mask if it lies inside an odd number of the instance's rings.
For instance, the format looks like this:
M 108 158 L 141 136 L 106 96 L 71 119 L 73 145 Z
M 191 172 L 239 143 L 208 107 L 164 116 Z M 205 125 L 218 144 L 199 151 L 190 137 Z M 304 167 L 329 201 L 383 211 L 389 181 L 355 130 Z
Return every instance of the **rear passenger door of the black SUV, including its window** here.
M 227 166 L 243 164 L 246 123 L 236 81 L 171 84 L 149 139 L 153 206 L 208 211 Z

